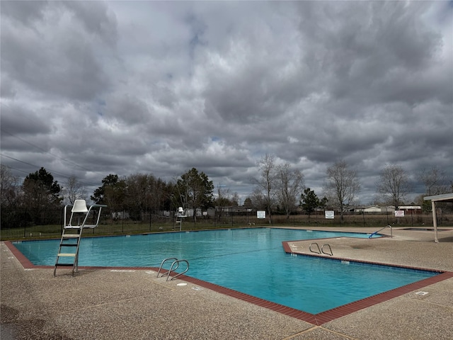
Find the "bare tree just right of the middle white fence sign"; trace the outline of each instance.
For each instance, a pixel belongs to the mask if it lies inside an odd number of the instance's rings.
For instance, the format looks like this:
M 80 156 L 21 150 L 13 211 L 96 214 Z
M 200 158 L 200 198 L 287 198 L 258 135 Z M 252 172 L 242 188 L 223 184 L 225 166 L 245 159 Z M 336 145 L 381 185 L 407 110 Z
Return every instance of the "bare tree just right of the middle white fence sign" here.
M 344 222 L 344 212 L 354 201 L 360 191 L 357 171 L 348 168 L 344 160 L 329 166 L 327 171 L 326 192 L 340 210 L 340 222 Z

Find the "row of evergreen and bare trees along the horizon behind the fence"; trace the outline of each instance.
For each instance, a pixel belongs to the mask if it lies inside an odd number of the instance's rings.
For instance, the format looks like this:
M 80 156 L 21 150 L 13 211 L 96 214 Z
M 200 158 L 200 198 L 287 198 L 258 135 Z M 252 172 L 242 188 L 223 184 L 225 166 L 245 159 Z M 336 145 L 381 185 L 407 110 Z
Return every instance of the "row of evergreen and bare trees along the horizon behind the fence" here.
M 357 170 L 340 160 L 326 170 L 326 179 L 321 193 L 316 194 L 304 183 L 304 174 L 293 169 L 288 163 L 277 164 L 275 156 L 265 154 L 256 164 L 258 177 L 251 179 L 253 192 L 244 200 L 246 208 L 265 210 L 269 222 L 275 214 L 289 216 L 298 209 L 311 214 L 317 208 L 332 208 L 343 212 L 359 205 L 360 179 Z M 1 165 L 1 209 L 23 207 L 43 209 L 61 207 L 74 203 L 76 199 L 88 200 L 86 188 L 75 176 L 69 177 L 60 185 L 52 174 L 43 167 L 28 174 L 22 183 L 11 170 Z M 432 167 L 420 171 L 416 178 L 425 186 L 425 193 L 415 201 L 419 205 L 424 196 L 438 195 L 453 191 L 452 179 Z M 396 209 L 405 205 L 407 196 L 413 189 L 411 176 L 401 166 L 388 165 L 379 174 L 375 183 L 376 198 L 373 203 L 393 205 Z M 121 177 L 108 174 L 89 196 L 93 203 L 106 204 L 112 211 L 127 211 L 133 219 L 140 220 L 143 212 L 159 215 L 162 211 L 184 209 L 207 210 L 214 207 L 238 205 L 239 195 L 229 188 L 217 186 L 208 176 L 192 168 L 172 181 L 163 181 L 153 174 L 131 174 Z M 215 195 L 214 195 L 215 193 Z M 321 197 L 322 196 L 322 197 Z M 220 209 L 222 210 L 222 209 Z M 197 218 L 197 214 L 193 214 Z

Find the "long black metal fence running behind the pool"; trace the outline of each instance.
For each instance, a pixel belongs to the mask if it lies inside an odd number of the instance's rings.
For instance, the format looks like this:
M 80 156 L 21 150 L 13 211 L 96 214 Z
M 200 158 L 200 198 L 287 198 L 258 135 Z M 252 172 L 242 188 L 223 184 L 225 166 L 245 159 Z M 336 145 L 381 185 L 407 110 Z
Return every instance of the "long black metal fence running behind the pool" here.
M 184 217 L 182 223 L 176 223 L 173 214 L 142 212 L 139 218 L 127 216 L 127 212 L 102 210 L 98 227 L 88 229 L 88 235 L 138 234 L 145 232 L 164 232 L 172 230 L 200 230 L 248 226 L 288 226 L 288 227 L 432 227 L 431 213 L 406 212 L 404 217 L 394 217 L 392 212 L 367 214 L 348 212 L 344 221 L 335 213 L 333 219 L 326 219 L 324 212 L 309 215 L 273 215 L 272 219 L 258 218 L 256 211 L 217 210 L 214 215 Z M 437 221 L 440 227 L 453 227 L 453 214 L 441 215 Z M 64 209 L 1 209 L 1 239 L 36 239 L 58 238 L 64 224 Z

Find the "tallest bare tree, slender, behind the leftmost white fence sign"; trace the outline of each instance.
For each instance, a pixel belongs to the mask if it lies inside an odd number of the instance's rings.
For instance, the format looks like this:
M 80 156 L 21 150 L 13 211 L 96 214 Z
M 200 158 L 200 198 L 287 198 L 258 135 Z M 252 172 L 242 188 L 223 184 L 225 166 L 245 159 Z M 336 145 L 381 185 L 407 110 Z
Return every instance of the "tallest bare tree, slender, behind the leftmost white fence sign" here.
M 276 165 L 275 158 L 271 154 L 265 154 L 265 156 L 258 162 L 260 169 L 260 178 L 254 179 L 253 182 L 256 185 L 253 196 L 263 200 L 265 209 L 268 210 L 269 224 L 272 223 L 272 210 L 275 201 L 275 195 L 277 194 L 276 183 Z

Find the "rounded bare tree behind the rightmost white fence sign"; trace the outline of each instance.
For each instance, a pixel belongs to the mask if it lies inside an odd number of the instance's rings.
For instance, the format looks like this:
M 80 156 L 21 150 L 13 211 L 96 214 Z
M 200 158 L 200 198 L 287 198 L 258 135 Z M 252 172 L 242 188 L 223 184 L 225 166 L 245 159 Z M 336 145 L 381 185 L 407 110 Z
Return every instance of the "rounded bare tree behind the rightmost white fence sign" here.
M 376 188 L 379 195 L 398 210 L 412 186 L 406 171 L 401 166 L 391 164 L 381 171 Z

